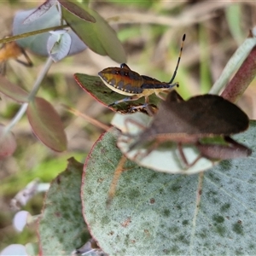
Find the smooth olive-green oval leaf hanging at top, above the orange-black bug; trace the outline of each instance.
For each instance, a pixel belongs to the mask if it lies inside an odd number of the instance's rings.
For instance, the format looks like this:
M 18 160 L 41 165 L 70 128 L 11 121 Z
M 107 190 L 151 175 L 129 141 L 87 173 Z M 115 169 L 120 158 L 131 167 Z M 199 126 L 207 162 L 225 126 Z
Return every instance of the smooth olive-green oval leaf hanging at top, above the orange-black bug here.
M 125 50 L 120 44 L 113 28 L 108 25 L 106 20 L 96 11 L 89 9 L 85 4 L 76 3 L 86 13 L 89 13 L 96 20 L 96 23 L 90 23 L 79 19 L 76 15 L 71 14 L 67 9 L 62 9 L 63 18 L 67 24 L 77 33 L 79 38 L 84 41 L 91 50 L 99 55 L 109 55 L 113 61 L 119 63 L 125 62 Z

